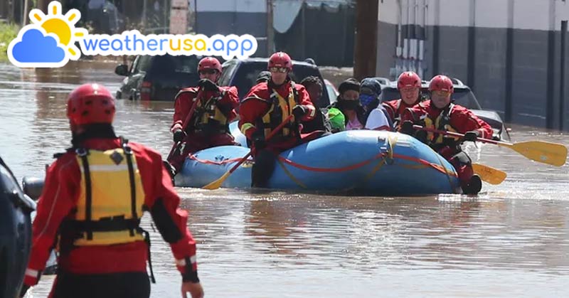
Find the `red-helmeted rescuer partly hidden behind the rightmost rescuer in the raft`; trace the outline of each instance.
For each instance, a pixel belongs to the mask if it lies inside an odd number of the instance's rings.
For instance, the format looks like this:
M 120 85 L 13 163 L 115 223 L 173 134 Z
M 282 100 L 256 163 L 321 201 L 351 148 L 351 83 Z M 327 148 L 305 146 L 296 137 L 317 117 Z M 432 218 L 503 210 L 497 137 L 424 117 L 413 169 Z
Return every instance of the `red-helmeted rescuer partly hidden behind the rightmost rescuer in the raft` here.
M 394 127 L 398 127 L 401 122 L 401 114 L 408 107 L 417 105 L 421 100 L 421 78 L 413 71 L 405 71 L 397 79 L 397 89 L 401 95 L 398 100 L 383 102 L 388 117 L 393 122 Z

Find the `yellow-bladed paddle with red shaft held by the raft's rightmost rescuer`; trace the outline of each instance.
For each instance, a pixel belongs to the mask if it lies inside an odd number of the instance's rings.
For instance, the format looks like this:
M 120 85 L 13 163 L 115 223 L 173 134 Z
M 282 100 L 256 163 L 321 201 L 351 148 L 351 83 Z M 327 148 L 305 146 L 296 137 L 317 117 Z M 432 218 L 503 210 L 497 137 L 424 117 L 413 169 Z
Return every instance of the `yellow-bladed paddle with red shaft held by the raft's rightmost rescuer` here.
M 453 137 L 464 137 L 464 134 L 457 132 L 447 132 L 444 130 L 430 129 L 420 125 L 413 125 L 415 129 L 426 130 L 427 132 L 435 132 L 437 134 L 447 134 Z M 542 142 L 542 141 L 528 141 L 520 143 L 506 143 L 494 141 L 493 139 L 477 138 L 477 141 L 496 144 L 501 147 L 508 147 L 519 154 L 526 156 L 526 158 L 533 161 L 538 161 L 543 164 L 551 164 L 552 166 L 563 166 L 567 160 L 567 147 L 563 144 Z

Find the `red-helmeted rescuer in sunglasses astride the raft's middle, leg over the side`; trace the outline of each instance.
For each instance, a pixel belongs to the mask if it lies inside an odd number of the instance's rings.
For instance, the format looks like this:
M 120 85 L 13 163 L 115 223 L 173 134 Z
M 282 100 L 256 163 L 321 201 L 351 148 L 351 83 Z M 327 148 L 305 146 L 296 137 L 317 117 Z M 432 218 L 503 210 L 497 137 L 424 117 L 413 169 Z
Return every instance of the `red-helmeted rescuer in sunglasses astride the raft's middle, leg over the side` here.
M 314 118 L 315 108 L 303 85 L 289 77 L 292 60 L 287 53 L 274 53 L 269 58 L 271 78 L 251 88 L 239 107 L 239 129 L 252 142 L 255 164 L 252 166 L 253 187 L 266 188 L 275 170 L 277 154 L 297 146 L 299 122 Z M 275 137 L 266 139 L 272 129 L 294 115 Z

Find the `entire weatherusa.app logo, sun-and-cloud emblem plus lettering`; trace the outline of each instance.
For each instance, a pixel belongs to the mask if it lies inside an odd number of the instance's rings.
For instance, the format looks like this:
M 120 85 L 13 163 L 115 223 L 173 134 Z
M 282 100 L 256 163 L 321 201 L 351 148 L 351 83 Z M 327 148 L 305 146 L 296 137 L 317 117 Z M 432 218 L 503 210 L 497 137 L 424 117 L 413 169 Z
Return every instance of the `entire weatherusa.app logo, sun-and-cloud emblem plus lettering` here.
M 75 28 L 77 9 L 63 15 L 61 4 L 51 1 L 48 14 L 30 11 L 31 24 L 21 28 L 8 46 L 10 62 L 19 68 L 60 68 L 81 55 L 218 55 L 225 60 L 246 59 L 257 50 L 257 38 L 244 34 L 211 37 L 203 34 L 149 34 L 137 30 L 112 36 L 89 34 Z M 75 43 L 79 44 L 78 48 Z

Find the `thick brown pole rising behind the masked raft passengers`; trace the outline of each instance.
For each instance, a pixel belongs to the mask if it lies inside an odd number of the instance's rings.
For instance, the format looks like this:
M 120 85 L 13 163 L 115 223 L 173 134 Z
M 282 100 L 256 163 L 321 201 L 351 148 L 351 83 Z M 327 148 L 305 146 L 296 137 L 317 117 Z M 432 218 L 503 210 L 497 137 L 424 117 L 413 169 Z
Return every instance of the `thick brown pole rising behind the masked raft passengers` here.
M 353 77 L 376 76 L 379 0 L 356 0 L 356 44 Z

